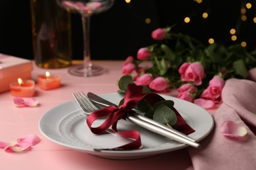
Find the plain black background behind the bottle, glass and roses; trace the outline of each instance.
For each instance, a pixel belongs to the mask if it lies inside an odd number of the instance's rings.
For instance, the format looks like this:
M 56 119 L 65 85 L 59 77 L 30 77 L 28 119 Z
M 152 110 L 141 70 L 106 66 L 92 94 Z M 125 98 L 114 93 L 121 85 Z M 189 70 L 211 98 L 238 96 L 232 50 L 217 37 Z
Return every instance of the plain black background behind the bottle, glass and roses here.
M 241 21 L 241 7 L 250 2 L 247 21 Z M 139 48 L 154 41 L 151 32 L 158 27 L 177 24 L 175 32 L 186 33 L 207 44 L 213 37 L 219 44 L 247 42 L 247 49 L 256 46 L 255 2 L 240 0 L 133 0 L 130 4 L 116 0 L 114 6 L 91 18 L 91 58 L 125 59 L 136 56 Z M 207 20 L 202 12 L 209 12 Z M 184 24 L 185 16 L 191 22 Z M 146 24 L 145 18 L 151 23 Z M 30 0 L 0 1 L 0 53 L 33 59 Z M 237 29 L 238 40 L 230 40 L 230 28 Z M 72 57 L 83 59 L 81 18 L 72 14 Z

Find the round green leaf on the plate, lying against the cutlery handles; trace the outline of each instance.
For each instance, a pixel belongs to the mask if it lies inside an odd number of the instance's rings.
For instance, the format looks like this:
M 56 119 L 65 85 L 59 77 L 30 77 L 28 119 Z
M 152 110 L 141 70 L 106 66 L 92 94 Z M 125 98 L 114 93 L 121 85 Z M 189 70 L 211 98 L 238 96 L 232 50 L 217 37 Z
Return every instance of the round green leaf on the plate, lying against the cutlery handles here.
M 155 110 L 153 119 L 167 126 L 174 126 L 177 122 L 175 112 L 166 105 L 160 105 Z

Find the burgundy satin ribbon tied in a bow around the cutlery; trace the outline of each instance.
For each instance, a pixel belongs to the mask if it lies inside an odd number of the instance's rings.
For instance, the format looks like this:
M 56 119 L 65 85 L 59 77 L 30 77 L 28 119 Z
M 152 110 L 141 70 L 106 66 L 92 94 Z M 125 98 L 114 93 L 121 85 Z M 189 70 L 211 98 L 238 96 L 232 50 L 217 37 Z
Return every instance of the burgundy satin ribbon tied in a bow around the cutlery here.
M 136 105 L 142 100 L 146 99 L 150 105 L 154 105 L 158 101 L 165 100 L 163 97 L 156 93 L 142 93 L 142 86 L 137 86 L 135 84 L 129 84 L 127 87 L 127 92 L 125 93 L 124 103 L 123 105 L 119 106 L 118 108 L 115 106 L 105 107 L 100 110 L 96 110 L 95 112 L 91 113 L 87 118 L 87 125 L 91 129 L 91 131 L 95 134 L 102 134 L 104 133 L 110 126 L 112 126 L 112 130 L 115 131 L 117 134 L 121 135 L 121 137 L 133 139 L 131 143 L 124 144 L 123 146 L 119 146 L 116 149 L 138 149 L 141 146 L 140 141 L 140 133 L 136 130 L 127 130 L 127 131 L 117 131 L 117 122 L 118 120 L 125 119 L 127 114 L 135 113 Z M 179 112 L 173 108 L 175 113 L 177 114 L 177 124 L 174 126 L 175 129 L 189 134 L 194 132 L 192 127 L 188 126 L 188 124 L 184 121 L 181 117 Z M 98 127 L 92 127 L 92 124 L 98 118 L 102 118 L 107 116 L 106 120 Z

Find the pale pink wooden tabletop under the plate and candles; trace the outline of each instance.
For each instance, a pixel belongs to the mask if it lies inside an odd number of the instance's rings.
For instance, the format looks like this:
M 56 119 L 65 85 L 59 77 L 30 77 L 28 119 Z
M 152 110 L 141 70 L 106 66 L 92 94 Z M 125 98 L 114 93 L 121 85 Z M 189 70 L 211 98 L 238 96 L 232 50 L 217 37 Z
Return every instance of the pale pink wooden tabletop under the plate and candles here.
M 61 88 L 44 91 L 36 86 L 38 107 L 17 108 L 10 92 L 0 93 L 0 141 L 10 142 L 29 133 L 41 138 L 30 152 L 16 153 L 0 150 L 0 169 L 187 169 L 191 165 L 188 149 L 161 154 L 140 160 L 109 160 L 60 146 L 39 132 L 39 119 L 56 105 L 73 99 L 72 92 L 117 92 L 123 61 L 95 61 L 108 69 L 104 75 L 77 77 L 67 69 L 40 69 L 34 65 L 32 78 L 50 71 L 62 77 Z

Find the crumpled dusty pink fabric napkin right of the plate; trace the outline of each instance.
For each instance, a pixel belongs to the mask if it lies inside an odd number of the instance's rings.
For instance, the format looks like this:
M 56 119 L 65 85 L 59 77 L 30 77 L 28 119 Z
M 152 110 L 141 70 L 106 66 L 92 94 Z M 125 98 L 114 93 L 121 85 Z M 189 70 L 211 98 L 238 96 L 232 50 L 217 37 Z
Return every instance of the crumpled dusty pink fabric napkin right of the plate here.
M 213 131 L 200 143 L 200 149 L 188 148 L 192 167 L 189 169 L 256 169 L 256 82 L 226 80 L 223 104 L 213 113 Z M 221 125 L 232 120 L 247 129 L 247 135 L 238 140 L 225 137 Z

